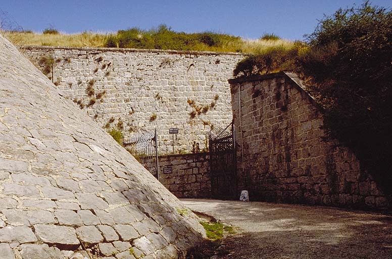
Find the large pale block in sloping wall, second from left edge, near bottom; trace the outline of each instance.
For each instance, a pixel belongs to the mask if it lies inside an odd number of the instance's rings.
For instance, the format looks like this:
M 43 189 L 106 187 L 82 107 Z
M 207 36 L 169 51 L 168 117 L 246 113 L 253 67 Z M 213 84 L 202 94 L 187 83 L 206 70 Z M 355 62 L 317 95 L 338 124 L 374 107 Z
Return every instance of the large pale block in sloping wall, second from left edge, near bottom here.
M 37 237 L 44 243 L 57 244 L 71 249 L 79 246 L 74 228 L 37 224 L 34 229 Z

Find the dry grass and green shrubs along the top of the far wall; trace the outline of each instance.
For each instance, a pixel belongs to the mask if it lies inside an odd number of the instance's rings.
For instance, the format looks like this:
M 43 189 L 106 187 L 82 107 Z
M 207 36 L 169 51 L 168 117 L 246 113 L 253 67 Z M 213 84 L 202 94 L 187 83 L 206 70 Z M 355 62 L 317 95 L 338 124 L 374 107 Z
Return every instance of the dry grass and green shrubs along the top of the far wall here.
M 237 36 L 202 32 L 174 32 L 161 25 L 158 29 L 132 28 L 115 33 L 82 32 L 66 34 L 35 33 L 31 31 L 2 32 L 15 45 L 62 46 L 62 47 L 111 47 L 135 49 L 168 49 L 213 52 L 260 53 L 270 48 L 291 49 L 294 42 L 265 34 L 259 39 L 243 39 Z

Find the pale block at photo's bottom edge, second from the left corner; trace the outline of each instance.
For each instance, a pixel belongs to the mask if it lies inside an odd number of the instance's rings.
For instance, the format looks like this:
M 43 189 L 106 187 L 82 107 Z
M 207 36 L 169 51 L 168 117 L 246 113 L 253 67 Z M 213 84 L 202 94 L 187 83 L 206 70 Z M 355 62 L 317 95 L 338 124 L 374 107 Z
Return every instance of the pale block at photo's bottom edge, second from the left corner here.
M 23 244 L 20 254 L 23 259 L 54 259 L 62 258 L 61 251 L 57 247 L 49 247 L 47 244 Z

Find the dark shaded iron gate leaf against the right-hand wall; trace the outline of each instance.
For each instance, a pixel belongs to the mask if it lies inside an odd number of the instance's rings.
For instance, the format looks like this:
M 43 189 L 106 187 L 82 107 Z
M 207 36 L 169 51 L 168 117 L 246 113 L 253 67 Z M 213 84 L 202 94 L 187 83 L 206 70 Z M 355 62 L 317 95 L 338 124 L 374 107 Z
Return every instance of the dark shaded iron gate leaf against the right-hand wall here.
M 219 199 L 235 199 L 237 171 L 233 122 L 226 128 L 215 127 L 208 134 L 208 139 L 212 196 Z

